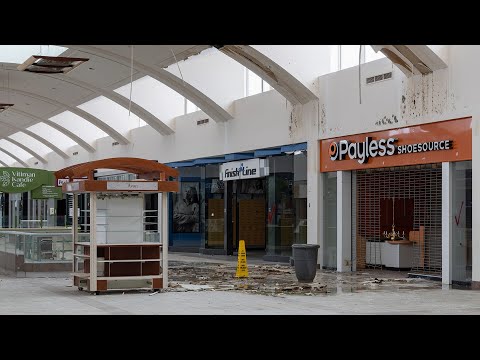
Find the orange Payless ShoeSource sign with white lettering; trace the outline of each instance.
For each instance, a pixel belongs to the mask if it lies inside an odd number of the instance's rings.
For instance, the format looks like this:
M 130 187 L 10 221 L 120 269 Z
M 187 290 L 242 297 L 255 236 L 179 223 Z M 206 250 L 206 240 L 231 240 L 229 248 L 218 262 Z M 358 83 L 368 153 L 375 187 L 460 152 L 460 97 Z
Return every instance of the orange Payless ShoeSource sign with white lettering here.
M 472 159 L 472 119 L 322 140 L 322 172 Z

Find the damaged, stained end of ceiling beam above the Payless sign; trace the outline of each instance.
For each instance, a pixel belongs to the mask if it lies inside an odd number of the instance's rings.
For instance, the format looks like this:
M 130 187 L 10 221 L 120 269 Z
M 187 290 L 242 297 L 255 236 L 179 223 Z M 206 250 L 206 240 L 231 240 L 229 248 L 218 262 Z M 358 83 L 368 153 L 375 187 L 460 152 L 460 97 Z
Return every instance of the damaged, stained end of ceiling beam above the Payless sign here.
M 407 76 L 426 75 L 445 69 L 447 64 L 427 45 L 370 45 L 382 52 Z

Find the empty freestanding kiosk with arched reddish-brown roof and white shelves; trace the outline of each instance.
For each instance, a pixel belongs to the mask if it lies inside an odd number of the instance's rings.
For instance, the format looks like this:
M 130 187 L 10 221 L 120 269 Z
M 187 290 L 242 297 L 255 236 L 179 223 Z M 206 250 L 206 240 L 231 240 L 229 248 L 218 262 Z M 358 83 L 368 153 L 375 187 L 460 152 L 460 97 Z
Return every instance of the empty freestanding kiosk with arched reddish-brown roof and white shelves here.
M 97 169 L 126 171 L 137 179 L 94 180 Z M 73 194 L 73 283 L 79 290 L 168 287 L 167 193 L 179 191 L 177 170 L 151 160 L 111 158 L 73 165 L 55 176 L 67 179 L 62 190 Z M 152 193 L 162 193 L 159 210 L 145 210 L 145 194 Z M 81 194 L 89 194 L 83 209 Z

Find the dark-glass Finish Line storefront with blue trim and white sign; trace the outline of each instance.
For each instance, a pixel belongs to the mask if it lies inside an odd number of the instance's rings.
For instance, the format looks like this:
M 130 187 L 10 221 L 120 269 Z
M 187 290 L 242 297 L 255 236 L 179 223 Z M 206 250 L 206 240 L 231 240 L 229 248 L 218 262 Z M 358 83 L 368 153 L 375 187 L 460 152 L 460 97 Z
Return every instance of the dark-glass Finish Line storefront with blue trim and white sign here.
M 306 243 L 306 144 L 258 149 L 167 164 L 180 172 L 170 196 L 174 251 L 247 251 L 288 261 L 291 245 Z

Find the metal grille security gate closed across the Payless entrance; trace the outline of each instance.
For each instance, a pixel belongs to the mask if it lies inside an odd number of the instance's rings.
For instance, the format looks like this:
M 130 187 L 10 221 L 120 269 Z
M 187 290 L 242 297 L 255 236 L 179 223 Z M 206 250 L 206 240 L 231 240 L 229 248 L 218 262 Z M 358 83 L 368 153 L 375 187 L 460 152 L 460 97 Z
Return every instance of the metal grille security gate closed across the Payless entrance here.
M 353 270 L 388 267 L 385 244 L 394 231 L 393 243 L 409 250 L 407 269 L 441 276 L 441 164 L 359 170 L 352 175 Z

